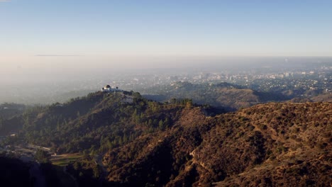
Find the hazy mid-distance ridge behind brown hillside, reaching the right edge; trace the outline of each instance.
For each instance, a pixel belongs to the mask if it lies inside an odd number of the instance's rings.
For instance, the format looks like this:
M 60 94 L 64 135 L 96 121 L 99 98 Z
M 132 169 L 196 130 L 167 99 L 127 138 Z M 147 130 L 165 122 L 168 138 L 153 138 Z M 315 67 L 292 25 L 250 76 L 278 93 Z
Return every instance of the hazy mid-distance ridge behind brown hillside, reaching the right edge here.
M 318 94 L 315 91 L 303 93 L 302 90 L 282 88 L 280 90 L 259 91 L 249 86 L 239 86 L 227 82 L 193 84 L 186 81 L 178 81 L 169 85 L 153 86 L 142 91 L 147 93 L 143 95 L 145 98 L 155 101 L 169 101 L 172 98 L 192 98 L 194 103 L 209 104 L 224 108 L 226 111 L 237 111 L 240 108 L 268 102 L 331 102 L 332 94 Z

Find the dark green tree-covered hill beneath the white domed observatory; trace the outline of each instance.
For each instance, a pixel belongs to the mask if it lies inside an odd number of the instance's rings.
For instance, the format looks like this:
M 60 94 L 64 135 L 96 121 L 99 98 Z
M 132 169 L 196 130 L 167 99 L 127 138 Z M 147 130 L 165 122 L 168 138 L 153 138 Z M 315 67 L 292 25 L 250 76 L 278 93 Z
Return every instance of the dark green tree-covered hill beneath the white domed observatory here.
M 23 125 L 17 139 L 57 153 L 100 152 L 170 128 L 186 106 L 193 106 L 192 101 L 162 104 L 134 92 L 96 92 L 67 103 L 28 108 L 20 115 Z

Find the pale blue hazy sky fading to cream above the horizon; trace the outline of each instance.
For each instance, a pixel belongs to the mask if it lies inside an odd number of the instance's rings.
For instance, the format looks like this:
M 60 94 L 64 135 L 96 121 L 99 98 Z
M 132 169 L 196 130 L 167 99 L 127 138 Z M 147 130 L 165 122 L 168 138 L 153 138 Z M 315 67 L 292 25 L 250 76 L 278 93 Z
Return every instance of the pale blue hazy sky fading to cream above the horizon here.
M 0 73 L 138 67 L 149 61 L 141 57 L 165 67 L 177 56 L 332 56 L 331 8 L 331 0 L 0 0 Z

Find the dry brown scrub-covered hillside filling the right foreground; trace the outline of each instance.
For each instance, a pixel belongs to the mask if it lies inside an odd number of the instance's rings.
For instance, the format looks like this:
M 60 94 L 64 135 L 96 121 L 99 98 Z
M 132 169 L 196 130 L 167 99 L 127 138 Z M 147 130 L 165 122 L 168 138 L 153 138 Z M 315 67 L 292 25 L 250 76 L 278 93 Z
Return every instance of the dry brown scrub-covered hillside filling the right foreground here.
M 108 180 L 135 186 L 331 186 L 332 103 L 267 103 L 206 117 L 104 155 Z

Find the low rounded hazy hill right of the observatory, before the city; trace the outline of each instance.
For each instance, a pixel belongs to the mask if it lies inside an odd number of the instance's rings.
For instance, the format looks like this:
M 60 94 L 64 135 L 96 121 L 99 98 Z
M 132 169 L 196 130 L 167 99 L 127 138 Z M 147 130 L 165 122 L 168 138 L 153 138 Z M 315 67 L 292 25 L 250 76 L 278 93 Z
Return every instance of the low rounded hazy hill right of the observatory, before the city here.
M 144 95 L 156 101 L 170 101 L 172 98 L 192 98 L 194 103 L 209 104 L 236 111 L 239 108 L 254 106 L 271 101 L 287 101 L 289 97 L 282 94 L 254 91 L 243 86 L 229 84 L 192 84 L 176 82 L 168 86 L 155 86 L 144 91 Z

